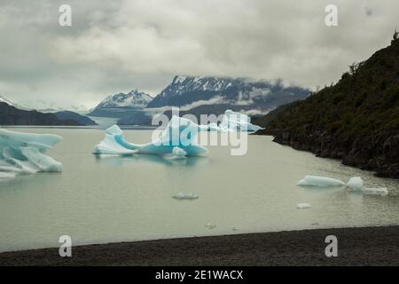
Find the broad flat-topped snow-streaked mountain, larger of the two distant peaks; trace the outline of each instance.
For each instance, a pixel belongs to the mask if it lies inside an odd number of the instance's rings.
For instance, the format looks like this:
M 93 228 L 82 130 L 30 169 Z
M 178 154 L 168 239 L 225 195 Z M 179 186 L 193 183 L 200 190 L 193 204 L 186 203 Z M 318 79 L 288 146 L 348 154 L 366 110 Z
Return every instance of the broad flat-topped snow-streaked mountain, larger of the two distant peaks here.
M 265 112 L 298 99 L 306 99 L 309 90 L 285 87 L 282 83 L 242 78 L 175 76 L 147 107 L 180 106 L 184 110 L 201 106 L 223 113 L 225 109 Z

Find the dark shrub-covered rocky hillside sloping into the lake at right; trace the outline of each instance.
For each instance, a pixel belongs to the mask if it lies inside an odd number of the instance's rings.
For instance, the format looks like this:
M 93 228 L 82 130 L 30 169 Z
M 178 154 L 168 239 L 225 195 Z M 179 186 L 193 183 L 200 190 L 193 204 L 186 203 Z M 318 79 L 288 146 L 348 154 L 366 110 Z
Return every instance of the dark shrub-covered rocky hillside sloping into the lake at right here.
M 339 83 L 256 121 L 257 134 L 399 178 L 399 41 L 351 66 Z

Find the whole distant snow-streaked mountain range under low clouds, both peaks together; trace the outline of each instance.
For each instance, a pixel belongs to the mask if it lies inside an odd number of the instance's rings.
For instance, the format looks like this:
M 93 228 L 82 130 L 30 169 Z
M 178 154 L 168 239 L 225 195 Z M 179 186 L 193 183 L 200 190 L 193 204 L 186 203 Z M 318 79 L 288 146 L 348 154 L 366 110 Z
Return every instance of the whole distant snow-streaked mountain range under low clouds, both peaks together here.
M 88 115 L 117 117 L 118 124 L 151 124 L 153 114 L 170 116 L 172 106 L 180 107 L 181 115 L 219 115 L 226 109 L 265 114 L 308 95 L 309 90 L 284 86 L 280 81 L 176 75 L 155 98 L 137 90 L 118 93 L 107 97 Z

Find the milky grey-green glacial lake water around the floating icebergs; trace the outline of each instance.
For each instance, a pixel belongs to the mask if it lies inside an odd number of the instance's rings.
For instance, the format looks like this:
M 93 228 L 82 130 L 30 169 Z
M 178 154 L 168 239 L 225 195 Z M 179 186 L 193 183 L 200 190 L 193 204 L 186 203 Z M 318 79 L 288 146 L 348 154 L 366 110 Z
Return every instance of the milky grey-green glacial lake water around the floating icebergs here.
M 249 136 L 241 156 L 231 155 L 230 146 L 208 146 L 208 157 L 170 161 L 154 155 L 99 159 L 91 150 L 104 130 L 15 130 L 62 136 L 49 155 L 64 170 L 0 181 L 0 251 L 58 247 L 61 235 L 77 245 L 399 224 L 399 181 L 280 146 L 270 137 Z M 137 143 L 152 135 L 124 132 Z M 389 194 L 297 186 L 305 175 L 343 181 L 360 176 L 366 186 L 387 187 Z M 199 198 L 172 198 L 180 192 Z M 301 202 L 311 208 L 297 209 Z

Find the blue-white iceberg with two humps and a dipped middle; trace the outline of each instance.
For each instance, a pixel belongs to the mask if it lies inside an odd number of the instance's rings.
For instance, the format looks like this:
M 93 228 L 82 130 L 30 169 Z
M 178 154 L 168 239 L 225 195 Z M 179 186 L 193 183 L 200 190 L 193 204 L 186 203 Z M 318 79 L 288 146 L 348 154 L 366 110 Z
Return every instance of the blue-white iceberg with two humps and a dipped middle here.
M 125 140 L 118 125 L 113 125 L 106 130 L 106 137 L 94 147 L 93 154 L 203 156 L 207 154 L 207 148 L 196 141 L 202 128 L 189 119 L 174 115 L 158 138 L 147 144 L 132 144 Z

